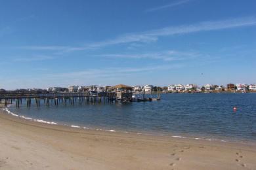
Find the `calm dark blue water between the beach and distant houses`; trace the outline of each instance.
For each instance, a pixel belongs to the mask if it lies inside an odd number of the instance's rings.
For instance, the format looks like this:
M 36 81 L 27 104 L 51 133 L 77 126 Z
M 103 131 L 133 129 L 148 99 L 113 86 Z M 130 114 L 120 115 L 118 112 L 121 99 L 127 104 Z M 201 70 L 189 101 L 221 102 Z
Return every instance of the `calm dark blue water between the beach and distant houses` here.
M 236 106 L 238 110 L 233 111 Z M 158 133 L 256 141 L 256 93 L 173 93 L 161 101 L 96 104 L 30 109 L 11 107 L 15 114 L 58 124 L 116 131 Z

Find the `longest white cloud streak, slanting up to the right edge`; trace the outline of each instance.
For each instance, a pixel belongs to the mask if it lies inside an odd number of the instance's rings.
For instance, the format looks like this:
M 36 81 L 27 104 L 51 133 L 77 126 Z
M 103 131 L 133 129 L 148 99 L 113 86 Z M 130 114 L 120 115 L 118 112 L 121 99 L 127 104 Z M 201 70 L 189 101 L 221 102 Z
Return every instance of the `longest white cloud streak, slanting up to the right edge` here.
M 221 29 L 231 29 L 236 27 L 248 27 L 256 25 L 256 17 L 247 18 L 232 18 L 228 20 L 219 21 L 207 21 L 200 22 L 198 24 L 190 25 L 179 25 L 171 27 L 163 27 L 161 29 L 155 29 L 151 31 L 145 31 L 141 33 L 129 33 L 125 35 L 120 35 L 115 39 L 110 39 L 106 41 L 92 42 L 85 44 L 83 46 L 25 46 L 22 48 L 30 50 L 58 50 L 61 52 L 72 52 L 78 50 L 89 50 L 95 48 L 102 48 L 105 46 L 126 44 L 134 42 L 155 42 L 158 41 L 160 37 L 167 37 L 173 35 L 184 35 L 188 33 L 197 33 L 201 31 L 216 31 Z

